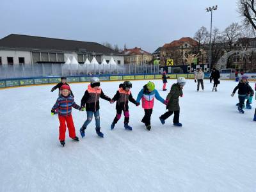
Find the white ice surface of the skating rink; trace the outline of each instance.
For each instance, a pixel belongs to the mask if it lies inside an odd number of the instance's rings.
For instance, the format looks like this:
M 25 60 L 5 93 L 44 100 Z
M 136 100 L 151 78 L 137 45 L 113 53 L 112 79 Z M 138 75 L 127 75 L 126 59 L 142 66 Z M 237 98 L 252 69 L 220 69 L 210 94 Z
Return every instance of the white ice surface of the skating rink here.
M 132 81 L 132 95 L 147 81 Z M 154 81 L 161 91 L 160 80 Z M 175 80 L 169 80 L 170 85 Z M 109 97 L 120 82 L 102 82 Z M 152 131 L 140 120 L 143 109 L 130 103 L 132 131 L 124 130 L 124 116 L 113 131 L 115 104 L 100 100 L 100 121 L 105 138 L 95 134 L 95 122 L 79 128 L 86 113 L 72 109 L 79 143 L 58 141 L 58 116 L 51 116 L 57 99 L 52 85 L 0 90 L 0 191 L 255 191 L 255 109 L 237 112 L 234 81 L 221 81 L 218 92 L 205 80 L 196 92 L 189 80 L 180 98 L 180 122 L 171 116 L 161 125 L 165 106 L 156 100 Z M 253 86 L 253 83 L 250 83 Z M 87 83 L 71 84 L 77 104 Z M 255 101 L 253 101 L 255 102 Z

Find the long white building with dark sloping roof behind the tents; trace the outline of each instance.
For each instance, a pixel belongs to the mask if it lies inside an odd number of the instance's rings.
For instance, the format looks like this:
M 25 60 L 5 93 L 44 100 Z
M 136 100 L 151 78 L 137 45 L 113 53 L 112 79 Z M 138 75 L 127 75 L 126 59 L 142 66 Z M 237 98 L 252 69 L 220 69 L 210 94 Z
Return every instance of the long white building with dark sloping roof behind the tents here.
M 79 63 L 92 61 L 93 56 L 98 63 L 113 57 L 124 65 L 123 54 L 95 42 L 15 34 L 0 39 L 0 64 L 65 63 L 72 56 Z

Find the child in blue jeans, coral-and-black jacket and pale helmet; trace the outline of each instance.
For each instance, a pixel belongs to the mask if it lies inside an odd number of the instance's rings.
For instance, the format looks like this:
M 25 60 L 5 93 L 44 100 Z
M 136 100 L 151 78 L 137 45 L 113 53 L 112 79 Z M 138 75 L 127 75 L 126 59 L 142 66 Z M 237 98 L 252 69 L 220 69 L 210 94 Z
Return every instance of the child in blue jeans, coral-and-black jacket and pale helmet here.
M 88 89 L 85 91 L 84 96 L 81 100 L 81 108 L 84 108 L 87 113 L 87 119 L 80 129 L 82 138 L 85 136 L 86 127 L 92 122 L 92 116 L 95 117 L 96 133 L 101 138 L 104 134 L 100 132 L 100 102 L 99 99 L 105 99 L 110 102 L 110 98 L 106 96 L 100 88 L 100 79 L 98 77 L 92 77 L 91 83 L 88 85 Z

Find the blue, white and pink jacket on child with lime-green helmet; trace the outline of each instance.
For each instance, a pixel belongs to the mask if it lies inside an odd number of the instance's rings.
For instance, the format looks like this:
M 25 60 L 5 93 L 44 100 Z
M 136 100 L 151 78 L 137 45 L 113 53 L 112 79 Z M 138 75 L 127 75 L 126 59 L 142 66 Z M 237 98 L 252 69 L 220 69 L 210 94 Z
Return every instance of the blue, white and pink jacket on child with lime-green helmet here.
M 157 90 L 154 90 L 153 92 L 148 92 L 147 84 L 143 86 L 143 89 L 138 94 L 138 97 L 136 99 L 136 102 L 140 102 L 140 99 L 142 100 L 142 108 L 143 109 L 152 109 L 154 107 L 154 99 L 159 100 L 160 102 L 164 103 L 164 99 L 159 95 Z

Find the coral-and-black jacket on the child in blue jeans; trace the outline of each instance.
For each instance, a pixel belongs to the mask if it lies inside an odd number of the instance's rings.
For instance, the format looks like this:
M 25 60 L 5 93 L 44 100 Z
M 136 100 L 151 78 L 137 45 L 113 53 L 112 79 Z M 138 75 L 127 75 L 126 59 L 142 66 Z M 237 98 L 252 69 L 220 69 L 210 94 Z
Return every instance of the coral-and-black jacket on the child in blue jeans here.
M 105 99 L 110 101 L 111 99 L 106 96 L 101 88 L 95 90 L 91 84 L 88 85 L 88 89 L 84 92 L 84 96 L 81 99 L 81 107 L 86 106 L 86 111 L 97 111 L 100 109 L 99 99 Z

